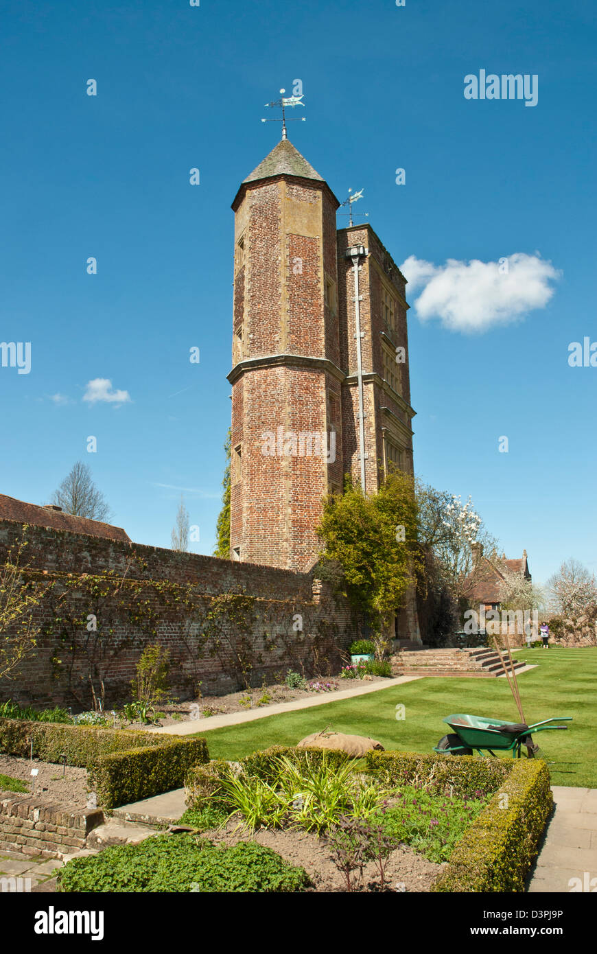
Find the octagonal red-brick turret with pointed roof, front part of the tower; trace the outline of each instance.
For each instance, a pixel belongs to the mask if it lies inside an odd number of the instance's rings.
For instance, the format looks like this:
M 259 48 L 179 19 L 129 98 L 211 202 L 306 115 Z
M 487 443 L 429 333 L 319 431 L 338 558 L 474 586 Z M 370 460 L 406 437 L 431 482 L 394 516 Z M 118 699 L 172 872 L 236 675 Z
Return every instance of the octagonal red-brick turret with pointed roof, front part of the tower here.
M 233 202 L 236 559 L 308 569 L 321 497 L 341 486 L 338 206 L 287 139 Z

